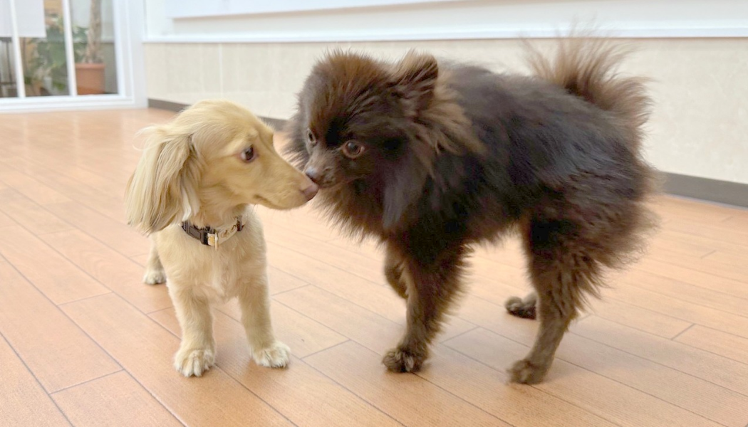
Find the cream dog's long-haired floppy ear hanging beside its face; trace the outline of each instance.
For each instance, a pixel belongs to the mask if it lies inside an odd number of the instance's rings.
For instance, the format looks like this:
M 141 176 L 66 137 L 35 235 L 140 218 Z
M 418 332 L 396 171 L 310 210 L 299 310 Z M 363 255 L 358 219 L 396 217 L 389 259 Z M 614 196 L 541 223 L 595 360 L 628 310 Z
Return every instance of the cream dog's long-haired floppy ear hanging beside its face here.
M 170 126 L 150 134 L 125 192 L 128 224 L 150 234 L 197 213 L 197 159 L 191 135 Z

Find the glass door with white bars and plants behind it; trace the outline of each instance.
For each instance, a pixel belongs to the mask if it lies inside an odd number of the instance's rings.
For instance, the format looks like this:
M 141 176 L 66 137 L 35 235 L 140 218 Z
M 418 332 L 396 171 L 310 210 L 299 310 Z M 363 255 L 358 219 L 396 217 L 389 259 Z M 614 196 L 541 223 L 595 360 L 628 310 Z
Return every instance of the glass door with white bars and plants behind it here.
M 22 100 L 75 104 L 128 95 L 117 37 L 126 25 L 115 19 L 126 15 L 120 3 L 0 0 L 0 110 Z

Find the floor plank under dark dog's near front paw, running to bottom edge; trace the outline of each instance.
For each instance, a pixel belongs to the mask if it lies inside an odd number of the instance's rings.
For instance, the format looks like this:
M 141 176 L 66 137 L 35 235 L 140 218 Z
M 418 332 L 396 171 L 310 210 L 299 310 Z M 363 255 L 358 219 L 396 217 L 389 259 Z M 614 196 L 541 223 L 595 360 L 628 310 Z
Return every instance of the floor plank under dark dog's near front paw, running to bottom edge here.
M 509 424 L 447 393 L 417 375 L 385 371 L 380 357 L 355 342 L 346 342 L 305 361 L 352 390 L 405 426 L 504 426 Z

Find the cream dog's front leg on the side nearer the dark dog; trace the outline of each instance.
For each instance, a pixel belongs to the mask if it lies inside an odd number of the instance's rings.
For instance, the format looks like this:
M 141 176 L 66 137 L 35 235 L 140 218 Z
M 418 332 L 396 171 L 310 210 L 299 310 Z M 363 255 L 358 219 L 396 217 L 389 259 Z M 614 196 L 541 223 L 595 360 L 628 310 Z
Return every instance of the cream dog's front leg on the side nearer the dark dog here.
M 257 273 L 245 277 L 245 280 L 247 282 L 237 296 L 252 359 L 260 366 L 282 368 L 288 364 L 291 351 L 288 345 L 275 340 L 266 268 L 257 268 Z

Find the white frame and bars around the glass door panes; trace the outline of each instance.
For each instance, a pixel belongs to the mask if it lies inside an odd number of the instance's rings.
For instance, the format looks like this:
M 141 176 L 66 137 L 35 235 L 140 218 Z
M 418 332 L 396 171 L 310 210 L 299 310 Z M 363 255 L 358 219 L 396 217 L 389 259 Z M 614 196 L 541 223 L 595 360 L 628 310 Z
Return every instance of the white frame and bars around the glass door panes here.
M 70 0 L 63 0 L 65 45 L 67 52 L 68 85 L 70 95 L 25 96 L 21 50 L 19 46 L 16 14 L 17 1 L 10 1 L 10 19 L 13 28 L 13 55 L 18 97 L 0 98 L 0 113 L 28 111 L 56 111 L 100 108 L 144 108 L 147 106 L 145 90 L 143 36 L 145 32 L 144 0 L 112 0 L 114 13 L 114 55 L 117 62 L 117 94 L 76 94 L 73 37 L 70 25 Z

